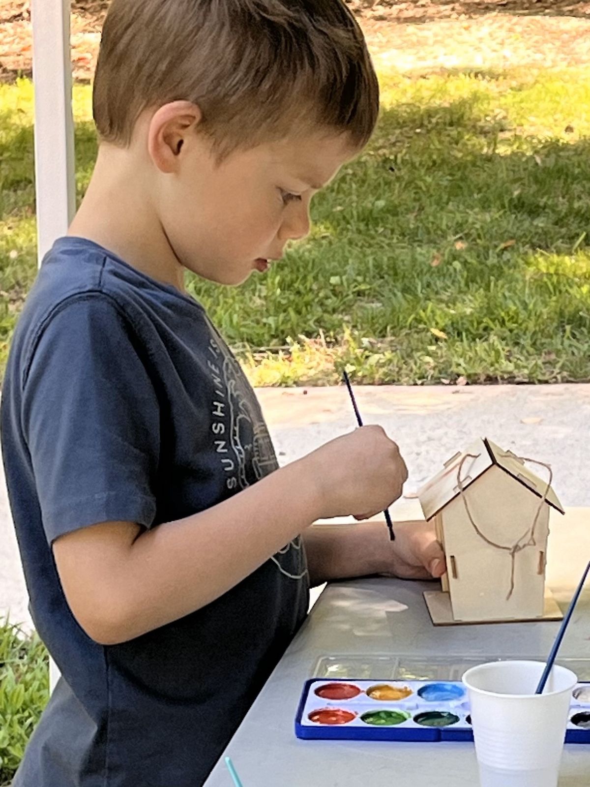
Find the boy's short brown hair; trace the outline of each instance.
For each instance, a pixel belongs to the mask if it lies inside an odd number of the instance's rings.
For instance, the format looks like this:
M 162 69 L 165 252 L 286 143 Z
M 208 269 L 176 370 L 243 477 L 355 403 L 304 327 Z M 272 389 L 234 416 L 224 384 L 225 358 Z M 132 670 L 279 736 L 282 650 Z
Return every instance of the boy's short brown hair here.
M 138 116 L 197 104 L 221 157 L 325 127 L 363 146 L 379 90 L 342 0 L 112 0 L 94 78 L 101 139 L 131 142 Z

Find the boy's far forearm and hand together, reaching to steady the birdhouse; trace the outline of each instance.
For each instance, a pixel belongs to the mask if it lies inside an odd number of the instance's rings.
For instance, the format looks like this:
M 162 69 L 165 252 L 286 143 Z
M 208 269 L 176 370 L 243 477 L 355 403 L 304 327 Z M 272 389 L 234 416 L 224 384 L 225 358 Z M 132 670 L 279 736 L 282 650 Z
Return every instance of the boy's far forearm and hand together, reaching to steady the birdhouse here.
M 395 523 L 389 541 L 385 521 L 315 525 L 304 533 L 310 582 L 386 574 L 406 579 L 440 577 L 444 552 L 434 528 L 422 520 Z

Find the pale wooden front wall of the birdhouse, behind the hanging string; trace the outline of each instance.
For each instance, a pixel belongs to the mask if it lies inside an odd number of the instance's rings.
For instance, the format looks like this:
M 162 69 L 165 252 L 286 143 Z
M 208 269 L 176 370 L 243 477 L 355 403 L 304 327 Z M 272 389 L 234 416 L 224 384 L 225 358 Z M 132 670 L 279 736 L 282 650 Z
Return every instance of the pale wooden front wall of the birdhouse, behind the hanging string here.
M 525 537 L 524 542 L 529 540 L 540 498 L 499 467 L 491 467 L 464 494 L 473 522 L 493 544 L 511 548 L 522 537 Z M 536 545 L 525 547 L 514 556 L 514 590 L 509 599 L 510 552 L 481 538 L 470 521 L 462 497 L 449 503 L 441 516 L 455 620 L 521 619 L 543 615 L 548 504 L 543 504 L 537 519 Z

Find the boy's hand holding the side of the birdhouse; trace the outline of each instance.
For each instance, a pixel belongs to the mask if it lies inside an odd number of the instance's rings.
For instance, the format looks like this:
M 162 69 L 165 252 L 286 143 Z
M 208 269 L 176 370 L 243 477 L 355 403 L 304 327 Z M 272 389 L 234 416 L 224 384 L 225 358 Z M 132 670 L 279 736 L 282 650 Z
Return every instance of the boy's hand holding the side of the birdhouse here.
M 381 525 L 380 574 L 401 579 L 430 579 L 441 577 L 447 570 L 433 525 L 422 520 L 394 522 L 395 541 L 389 541 L 385 523 Z

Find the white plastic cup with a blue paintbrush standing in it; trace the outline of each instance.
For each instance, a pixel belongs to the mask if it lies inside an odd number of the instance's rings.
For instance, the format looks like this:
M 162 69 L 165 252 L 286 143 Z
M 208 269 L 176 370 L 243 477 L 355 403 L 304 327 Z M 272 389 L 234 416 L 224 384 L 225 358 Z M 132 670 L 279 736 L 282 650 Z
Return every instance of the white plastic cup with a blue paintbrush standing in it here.
M 539 661 L 498 661 L 463 675 L 481 787 L 557 787 L 577 677 L 554 666 L 542 694 Z

